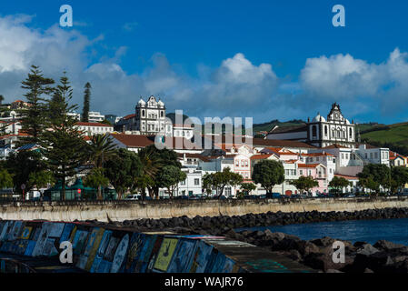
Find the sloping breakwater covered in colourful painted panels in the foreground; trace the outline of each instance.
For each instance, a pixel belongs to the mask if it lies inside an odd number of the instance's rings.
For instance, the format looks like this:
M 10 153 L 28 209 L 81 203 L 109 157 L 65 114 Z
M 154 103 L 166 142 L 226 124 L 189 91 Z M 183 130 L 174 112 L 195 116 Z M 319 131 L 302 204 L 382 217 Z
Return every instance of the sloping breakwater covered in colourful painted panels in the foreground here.
M 69 242 L 73 263 L 62 264 Z M 221 236 L 136 233 L 90 223 L 0 221 L 0 273 L 313 272 L 263 248 Z

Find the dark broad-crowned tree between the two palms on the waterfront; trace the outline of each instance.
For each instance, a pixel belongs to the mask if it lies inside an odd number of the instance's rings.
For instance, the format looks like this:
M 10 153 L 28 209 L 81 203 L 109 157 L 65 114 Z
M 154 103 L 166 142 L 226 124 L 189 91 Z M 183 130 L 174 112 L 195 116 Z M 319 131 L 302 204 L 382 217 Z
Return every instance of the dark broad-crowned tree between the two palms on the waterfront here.
M 104 164 L 104 175 L 114 186 L 118 199 L 122 199 L 127 189 L 137 187 L 136 179 L 142 175 L 142 163 L 135 153 L 121 148 Z

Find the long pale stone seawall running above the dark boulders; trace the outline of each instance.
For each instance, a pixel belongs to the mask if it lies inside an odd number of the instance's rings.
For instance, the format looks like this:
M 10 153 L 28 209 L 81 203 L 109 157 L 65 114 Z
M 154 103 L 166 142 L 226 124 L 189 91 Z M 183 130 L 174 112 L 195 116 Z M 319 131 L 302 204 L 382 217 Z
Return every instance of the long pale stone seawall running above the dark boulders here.
M 267 212 L 343 212 L 408 207 L 408 197 L 353 197 L 259 200 L 160 200 L 92 202 L 15 202 L 0 205 L 3 220 L 49 220 L 107 222 L 142 218 L 188 216 L 244 216 Z

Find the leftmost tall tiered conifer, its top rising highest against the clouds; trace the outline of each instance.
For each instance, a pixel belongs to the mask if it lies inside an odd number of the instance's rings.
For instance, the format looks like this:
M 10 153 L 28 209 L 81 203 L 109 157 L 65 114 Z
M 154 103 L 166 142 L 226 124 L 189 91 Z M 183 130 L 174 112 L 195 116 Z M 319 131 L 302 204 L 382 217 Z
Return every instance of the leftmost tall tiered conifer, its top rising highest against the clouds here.
M 45 78 L 38 66 L 32 65 L 31 73 L 22 82 L 22 88 L 27 90 L 25 98 L 28 107 L 21 110 L 21 125 L 28 137 L 19 144 L 39 144 L 40 136 L 43 134 L 47 121 L 47 105 L 45 96 L 54 92 L 53 79 Z

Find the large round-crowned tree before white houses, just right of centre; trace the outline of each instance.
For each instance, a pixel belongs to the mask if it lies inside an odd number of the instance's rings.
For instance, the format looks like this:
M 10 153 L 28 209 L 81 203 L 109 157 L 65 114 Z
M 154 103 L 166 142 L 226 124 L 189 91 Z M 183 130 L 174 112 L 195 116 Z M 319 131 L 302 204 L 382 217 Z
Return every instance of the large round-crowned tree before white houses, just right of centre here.
M 252 178 L 255 184 L 272 193 L 275 185 L 284 183 L 284 166 L 277 161 L 262 160 L 255 164 Z

